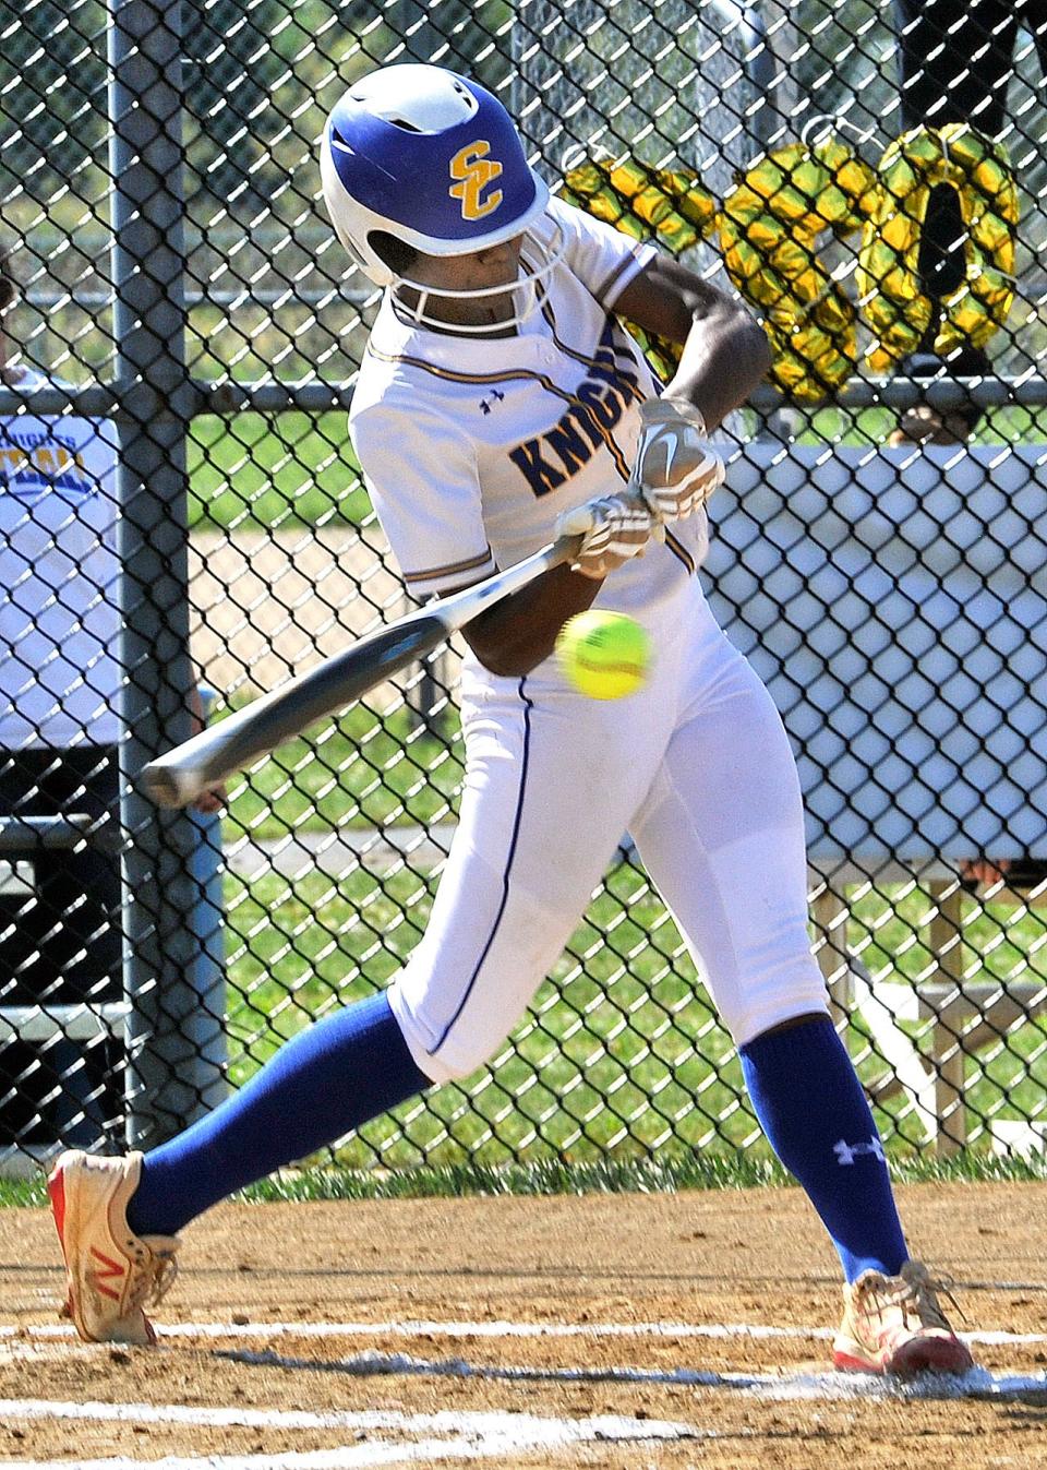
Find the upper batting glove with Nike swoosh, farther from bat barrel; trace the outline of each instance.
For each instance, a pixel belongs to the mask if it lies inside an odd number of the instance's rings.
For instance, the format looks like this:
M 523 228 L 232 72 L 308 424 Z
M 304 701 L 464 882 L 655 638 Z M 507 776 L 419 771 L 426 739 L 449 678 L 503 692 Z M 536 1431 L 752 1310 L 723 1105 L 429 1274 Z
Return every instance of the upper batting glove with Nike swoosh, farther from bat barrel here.
M 724 482 L 724 462 L 709 447 L 705 419 L 681 398 L 649 398 L 640 419 L 628 488 L 664 525 L 686 520 Z

